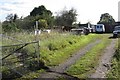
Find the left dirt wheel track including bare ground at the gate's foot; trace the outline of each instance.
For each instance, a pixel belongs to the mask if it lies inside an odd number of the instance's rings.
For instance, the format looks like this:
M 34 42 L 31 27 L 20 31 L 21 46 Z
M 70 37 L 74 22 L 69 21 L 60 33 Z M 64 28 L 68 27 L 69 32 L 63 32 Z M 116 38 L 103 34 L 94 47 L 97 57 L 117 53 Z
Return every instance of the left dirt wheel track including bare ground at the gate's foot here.
M 78 51 L 76 54 L 73 54 L 69 59 L 67 59 L 64 63 L 59 64 L 58 66 L 51 67 L 48 72 L 45 72 L 40 75 L 40 78 L 58 78 L 58 77 L 64 77 L 64 78 L 76 78 L 73 76 L 70 76 L 65 72 L 65 70 L 73 65 L 78 59 L 80 59 L 87 51 L 89 51 L 93 46 L 98 44 L 101 40 L 96 40 L 95 42 L 92 42 L 85 46 L 83 49 Z M 77 79 L 77 78 L 76 78 Z

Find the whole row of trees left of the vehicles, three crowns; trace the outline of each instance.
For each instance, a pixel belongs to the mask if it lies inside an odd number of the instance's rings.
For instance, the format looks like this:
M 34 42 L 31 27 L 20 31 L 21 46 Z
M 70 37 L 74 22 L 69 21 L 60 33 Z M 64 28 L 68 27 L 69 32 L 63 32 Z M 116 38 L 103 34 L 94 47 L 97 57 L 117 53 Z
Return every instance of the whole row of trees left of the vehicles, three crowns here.
M 52 28 L 56 26 L 65 26 L 71 28 L 72 24 L 76 22 L 77 12 L 74 8 L 70 10 L 61 11 L 56 17 L 52 15 L 52 12 L 45 8 L 44 5 L 35 7 L 30 15 L 19 18 L 17 14 L 9 14 L 6 17 L 6 21 L 2 23 L 3 30 L 5 32 L 20 31 L 20 30 L 34 30 L 35 22 L 38 21 L 39 29 Z

